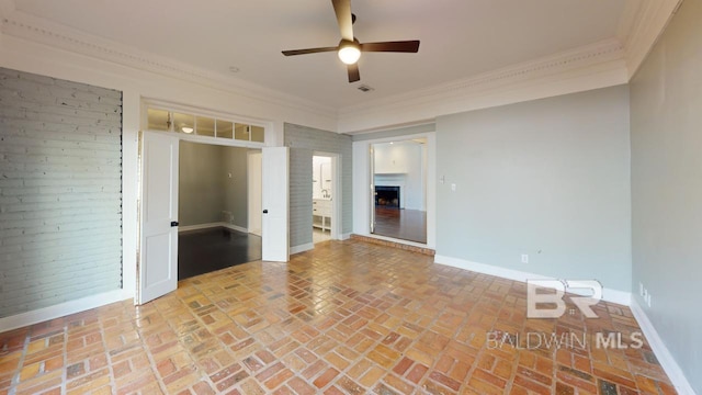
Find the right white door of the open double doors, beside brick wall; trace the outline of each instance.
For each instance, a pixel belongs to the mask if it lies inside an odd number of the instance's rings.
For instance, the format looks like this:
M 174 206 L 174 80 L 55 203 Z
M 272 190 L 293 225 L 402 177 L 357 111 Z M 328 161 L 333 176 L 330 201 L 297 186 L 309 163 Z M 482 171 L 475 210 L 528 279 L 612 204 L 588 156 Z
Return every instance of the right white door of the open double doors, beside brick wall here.
M 288 259 L 288 173 L 287 147 L 262 149 L 263 236 L 262 259 L 287 262 Z

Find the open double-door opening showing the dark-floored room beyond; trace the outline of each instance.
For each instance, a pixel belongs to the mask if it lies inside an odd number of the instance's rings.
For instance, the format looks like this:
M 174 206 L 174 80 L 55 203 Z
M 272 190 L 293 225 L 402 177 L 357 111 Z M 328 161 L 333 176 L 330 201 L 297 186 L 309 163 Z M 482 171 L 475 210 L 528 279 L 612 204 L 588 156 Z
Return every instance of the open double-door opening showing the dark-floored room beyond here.
M 261 259 L 260 159 L 260 150 L 180 142 L 178 280 Z

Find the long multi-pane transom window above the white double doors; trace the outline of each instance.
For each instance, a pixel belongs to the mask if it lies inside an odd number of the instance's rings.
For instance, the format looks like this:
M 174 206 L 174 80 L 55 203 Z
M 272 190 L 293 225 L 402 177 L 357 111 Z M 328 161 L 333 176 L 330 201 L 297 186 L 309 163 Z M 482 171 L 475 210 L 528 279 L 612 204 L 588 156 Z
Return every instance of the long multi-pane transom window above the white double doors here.
M 185 114 L 178 111 L 147 109 L 148 129 L 184 133 L 195 136 L 263 143 L 265 128 L 211 116 Z

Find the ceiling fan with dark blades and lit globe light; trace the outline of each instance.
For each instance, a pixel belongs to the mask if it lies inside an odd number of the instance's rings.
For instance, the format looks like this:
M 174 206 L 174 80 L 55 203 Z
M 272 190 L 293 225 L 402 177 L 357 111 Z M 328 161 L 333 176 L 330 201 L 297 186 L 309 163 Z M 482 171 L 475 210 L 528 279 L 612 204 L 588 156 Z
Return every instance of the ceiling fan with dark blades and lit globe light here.
M 353 22 L 355 22 L 355 15 L 351 13 L 351 0 L 331 0 L 331 4 L 333 5 L 333 11 L 337 14 L 337 22 L 339 23 L 339 30 L 341 31 L 341 41 L 339 42 L 339 45 L 336 47 L 283 50 L 283 55 L 293 56 L 336 50 L 339 55 L 339 59 L 347 65 L 349 82 L 355 82 L 361 80 L 361 74 L 359 72 L 359 65 L 356 61 L 359 61 L 362 52 L 415 54 L 419 50 L 419 40 L 361 44 L 353 36 Z

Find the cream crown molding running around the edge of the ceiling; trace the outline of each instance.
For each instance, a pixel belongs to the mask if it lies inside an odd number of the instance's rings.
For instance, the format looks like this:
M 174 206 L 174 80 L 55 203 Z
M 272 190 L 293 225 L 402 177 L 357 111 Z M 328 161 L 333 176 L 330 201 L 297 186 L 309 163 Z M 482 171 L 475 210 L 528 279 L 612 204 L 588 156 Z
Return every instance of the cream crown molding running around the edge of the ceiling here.
M 626 83 L 682 0 L 627 2 L 619 38 L 611 38 L 478 76 L 337 111 L 324 103 L 260 87 L 89 35 L 14 9 L 0 0 L 2 34 L 229 92 L 337 122 L 339 133 L 363 133 L 437 116 Z M 622 44 L 623 41 L 623 44 Z

